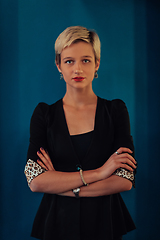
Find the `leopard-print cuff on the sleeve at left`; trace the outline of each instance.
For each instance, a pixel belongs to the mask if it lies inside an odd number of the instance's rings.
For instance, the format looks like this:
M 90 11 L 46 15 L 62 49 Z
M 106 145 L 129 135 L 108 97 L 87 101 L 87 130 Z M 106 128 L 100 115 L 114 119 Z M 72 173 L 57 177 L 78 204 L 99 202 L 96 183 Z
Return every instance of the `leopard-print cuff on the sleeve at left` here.
M 46 172 L 44 168 L 42 168 L 38 163 L 34 162 L 33 160 L 29 159 L 26 163 L 24 173 L 27 178 L 28 185 L 31 181 L 37 177 L 38 175 Z

